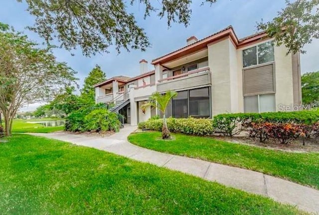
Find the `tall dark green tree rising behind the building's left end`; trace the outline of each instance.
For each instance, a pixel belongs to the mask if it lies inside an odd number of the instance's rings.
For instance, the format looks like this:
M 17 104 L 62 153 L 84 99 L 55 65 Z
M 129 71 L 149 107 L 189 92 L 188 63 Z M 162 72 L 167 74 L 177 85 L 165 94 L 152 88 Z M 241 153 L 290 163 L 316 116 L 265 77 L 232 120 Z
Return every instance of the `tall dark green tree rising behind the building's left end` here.
M 94 84 L 102 82 L 106 79 L 105 73 L 99 65 L 96 65 L 89 75 L 84 79 L 84 85 L 81 89 L 81 99 L 84 104 L 95 104 L 95 88 Z

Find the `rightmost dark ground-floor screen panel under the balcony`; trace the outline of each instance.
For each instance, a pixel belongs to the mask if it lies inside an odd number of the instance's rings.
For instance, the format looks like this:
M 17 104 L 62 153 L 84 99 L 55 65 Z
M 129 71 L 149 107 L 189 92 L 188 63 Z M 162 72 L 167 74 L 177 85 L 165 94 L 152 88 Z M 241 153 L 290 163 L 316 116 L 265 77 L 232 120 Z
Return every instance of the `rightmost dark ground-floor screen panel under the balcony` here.
M 195 118 L 209 118 L 209 88 L 189 90 L 189 115 Z

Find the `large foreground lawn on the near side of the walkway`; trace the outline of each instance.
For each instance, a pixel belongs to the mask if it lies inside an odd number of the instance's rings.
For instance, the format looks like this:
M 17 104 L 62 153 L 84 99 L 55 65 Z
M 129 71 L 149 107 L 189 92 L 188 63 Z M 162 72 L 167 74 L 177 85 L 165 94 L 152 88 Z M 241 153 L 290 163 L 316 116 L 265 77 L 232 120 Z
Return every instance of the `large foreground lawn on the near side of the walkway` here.
M 302 214 L 217 183 L 66 142 L 0 144 L 0 214 Z

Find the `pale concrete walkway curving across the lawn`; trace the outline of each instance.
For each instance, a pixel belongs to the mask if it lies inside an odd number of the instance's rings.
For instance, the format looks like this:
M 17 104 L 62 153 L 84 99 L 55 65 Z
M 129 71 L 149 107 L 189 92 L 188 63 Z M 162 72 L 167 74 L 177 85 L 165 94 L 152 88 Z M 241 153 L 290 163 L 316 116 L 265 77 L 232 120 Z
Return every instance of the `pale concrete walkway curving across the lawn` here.
M 319 214 L 319 191 L 316 189 L 250 170 L 141 148 L 127 141 L 129 134 L 135 130 L 136 127 L 126 126 L 120 132 L 104 138 L 63 132 L 32 135 L 93 147 L 134 160 L 177 170 L 249 193 L 267 196 L 278 202 L 297 206 L 301 210 Z

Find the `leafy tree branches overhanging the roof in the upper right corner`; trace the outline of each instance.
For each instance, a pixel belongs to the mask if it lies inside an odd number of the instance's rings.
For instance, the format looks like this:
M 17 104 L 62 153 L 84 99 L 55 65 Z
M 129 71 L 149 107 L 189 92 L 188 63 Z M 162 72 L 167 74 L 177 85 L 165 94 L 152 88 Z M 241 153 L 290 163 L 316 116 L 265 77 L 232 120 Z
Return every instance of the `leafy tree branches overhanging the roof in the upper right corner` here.
M 267 23 L 258 23 L 258 30 L 265 30 L 274 37 L 276 45 L 284 44 L 288 53 L 305 53 L 305 44 L 319 38 L 319 0 L 286 0 L 286 8 Z

